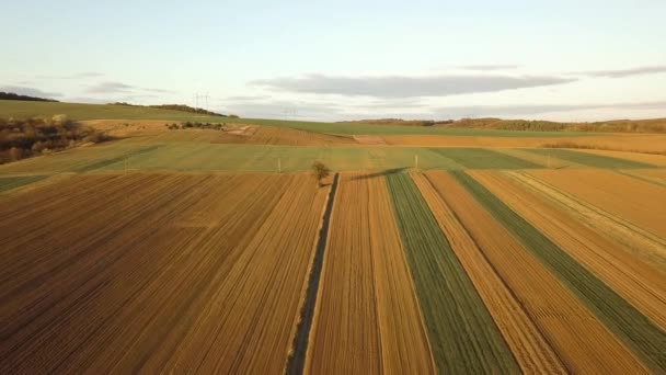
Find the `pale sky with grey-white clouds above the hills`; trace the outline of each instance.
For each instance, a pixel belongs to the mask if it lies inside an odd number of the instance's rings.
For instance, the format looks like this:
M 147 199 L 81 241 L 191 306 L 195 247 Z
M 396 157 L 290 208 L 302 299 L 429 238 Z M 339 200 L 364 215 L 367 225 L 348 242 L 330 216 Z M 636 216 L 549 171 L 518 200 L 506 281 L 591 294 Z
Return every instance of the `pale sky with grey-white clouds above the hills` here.
M 666 117 L 666 1 L 2 1 L 0 91 L 344 121 Z

